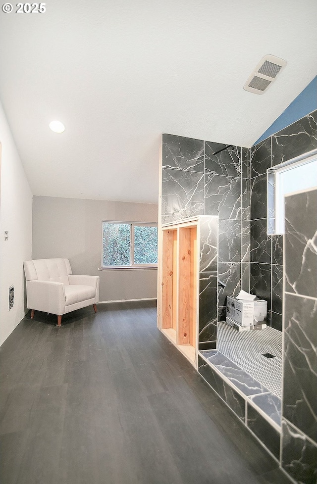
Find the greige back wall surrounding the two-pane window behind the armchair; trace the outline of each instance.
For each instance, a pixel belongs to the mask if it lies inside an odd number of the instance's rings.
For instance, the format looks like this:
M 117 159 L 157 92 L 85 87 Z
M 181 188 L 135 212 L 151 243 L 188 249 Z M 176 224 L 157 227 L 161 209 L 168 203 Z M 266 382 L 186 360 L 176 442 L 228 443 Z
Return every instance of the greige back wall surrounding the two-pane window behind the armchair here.
M 32 258 L 67 257 L 74 274 L 100 276 L 100 301 L 156 298 L 157 269 L 98 270 L 102 220 L 157 223 L 158 205 L 34 195 Z

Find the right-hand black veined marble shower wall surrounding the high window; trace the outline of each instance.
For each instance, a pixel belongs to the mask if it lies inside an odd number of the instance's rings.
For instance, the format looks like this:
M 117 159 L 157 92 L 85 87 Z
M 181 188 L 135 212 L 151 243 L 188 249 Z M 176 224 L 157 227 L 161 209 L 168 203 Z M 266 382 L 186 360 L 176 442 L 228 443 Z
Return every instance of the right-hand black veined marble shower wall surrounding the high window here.
M 282 330 L 283 236 L 267 235 L 266 170 L 317 148 L 317 111 L 251 148 L 250 292 L 267 301 L 267 323 Z M 268 196 L 274 196 L 269 193 Z

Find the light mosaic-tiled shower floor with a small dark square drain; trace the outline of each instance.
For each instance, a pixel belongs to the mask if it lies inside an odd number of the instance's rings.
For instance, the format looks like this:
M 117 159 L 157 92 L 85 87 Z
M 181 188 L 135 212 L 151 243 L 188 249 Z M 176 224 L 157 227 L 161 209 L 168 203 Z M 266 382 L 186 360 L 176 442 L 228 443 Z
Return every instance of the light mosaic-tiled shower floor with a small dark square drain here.
M 225 322 L 217 324 L 217 349 L 229 360 L 281 398 L 282 333 L 273 328 L 237 331 Z M 267 358 L 264 353 L 274 355 Z

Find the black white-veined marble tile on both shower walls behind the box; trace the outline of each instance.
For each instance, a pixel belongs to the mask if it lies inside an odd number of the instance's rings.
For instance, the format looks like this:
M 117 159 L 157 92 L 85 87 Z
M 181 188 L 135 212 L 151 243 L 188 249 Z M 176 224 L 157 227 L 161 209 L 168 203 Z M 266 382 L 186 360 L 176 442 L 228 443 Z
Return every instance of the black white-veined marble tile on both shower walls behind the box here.
M 224 147 L 163 134 L 161 221 L 218 216 L 218 280 L 224 288 L 218 286 L 217 321 L 225 319 L 226 296 L 244 289 L 267 301 L 266 323 L 281 331 L 283 236 L 267 235 L 266 170 L 317 148 L 317 111 L 250 149 L 230 146 L 213 154 Z M 214 315 L 211 321 L 214 329 L 203 332 L 201 349 L 215 347 Z

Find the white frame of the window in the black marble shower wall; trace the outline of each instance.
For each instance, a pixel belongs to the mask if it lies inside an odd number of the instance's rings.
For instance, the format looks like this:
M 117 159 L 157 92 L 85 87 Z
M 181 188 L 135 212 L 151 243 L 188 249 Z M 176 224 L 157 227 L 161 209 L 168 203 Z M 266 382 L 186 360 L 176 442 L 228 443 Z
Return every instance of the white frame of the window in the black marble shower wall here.
M 303 153 L 266 170 L 266 220 L 267 235 L 283 235 L 280 225 L 279 177 L 282 172 L 317 159 L 317 149 Z

